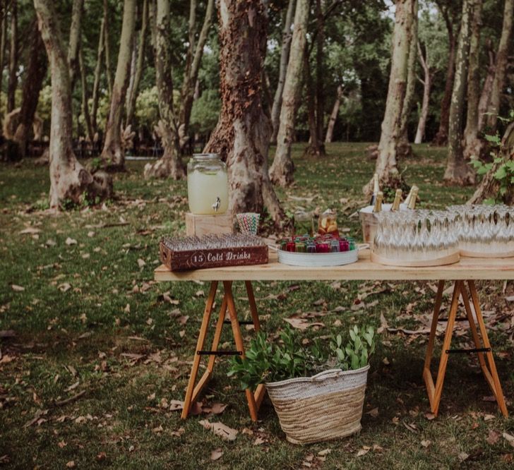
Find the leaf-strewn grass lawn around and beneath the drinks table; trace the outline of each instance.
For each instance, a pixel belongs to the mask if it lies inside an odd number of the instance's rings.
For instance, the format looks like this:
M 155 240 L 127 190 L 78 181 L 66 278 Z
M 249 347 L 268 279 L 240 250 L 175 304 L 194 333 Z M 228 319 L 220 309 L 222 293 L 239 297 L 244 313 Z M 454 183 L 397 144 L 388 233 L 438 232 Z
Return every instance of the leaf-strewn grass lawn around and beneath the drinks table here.
M 278 191 L 286 209 L 334 207 L 340 226 L 360 239 L 358 219 L 349 215 L 373 172 L 365 147 L 329 145 L 328 157 L 317 160 L 301 157 L 303 145 L 295 147 L 296 183 Z M 407 182 L 419 186 L 422 207 L 470 196 L 470 188 L 441 184 L 445 149 L 418 145 L 414 152 L 402 168 Z M 205 408 L 227 404 L 225 411 L 181 421 L 170 406 L 184 399 L 208 285 L 153 282 L 158 240 L 184 230 L 186 182 L 144 181 L 142 174 L 143 163 L 131 162 L 116 176 L 116 200 L 48 215 L 42 211 L 47 168 L 30 161 L 0 166 L 0 330 L 16 334 L 0 338 L 0 466 L 513 468 L 514 447 L 503 433 L 514 435 L 514 418 L 498 413 L 474 356 L 451 356 L 440 415 L 431 419 L 422 380 L 424 334 L 383 332 L 371 359 L 362 431 L 351 438 L 291 445 L 268 398 L 260 421 L 252 423 L 223 359 L 202 399 Z M 297 199 L 313 196 L 311 202 Z M 315 312 L 324 326 L 306 330 L 305 337 L 314 339 L 346 333 L 354 323 L 378 327 L 381 315 L 390 327 L 420 330 L 431 316 L 435 283 L 301 282 L 292 289 L 294 284 L 254 284 L 263 329 L 276 332 L 285 326 L 283 318 Z M 482 282 L 479 288 L 512 412 L 514 303 L 506 297 L 513 287 Z M 279 293 L 278 299 L 270 295 Z M 238 285 L 236 299 L 245 295 Z M 224 335 L 222 342 L 229 341 L 229 328 Z M 456 342 L 469 341 L 467 330 L 458 330 Z M 237 429 L 237 439 L 225 442 L 205 430 L 199 423 L 205 418 Z M 331 452 L 318 456 L 326 449 Z M 213 461 L 216 450 L 222 454 Z

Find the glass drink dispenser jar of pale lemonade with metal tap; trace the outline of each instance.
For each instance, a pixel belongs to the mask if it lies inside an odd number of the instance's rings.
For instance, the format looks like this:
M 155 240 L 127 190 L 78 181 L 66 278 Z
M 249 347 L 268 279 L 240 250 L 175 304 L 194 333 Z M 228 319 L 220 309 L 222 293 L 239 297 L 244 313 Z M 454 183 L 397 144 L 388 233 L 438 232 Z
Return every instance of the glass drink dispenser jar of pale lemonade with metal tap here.
M 217 153 L 196 153 L 187 164 L 189 211 L 225 214 L 229 206 L 227 165 Z

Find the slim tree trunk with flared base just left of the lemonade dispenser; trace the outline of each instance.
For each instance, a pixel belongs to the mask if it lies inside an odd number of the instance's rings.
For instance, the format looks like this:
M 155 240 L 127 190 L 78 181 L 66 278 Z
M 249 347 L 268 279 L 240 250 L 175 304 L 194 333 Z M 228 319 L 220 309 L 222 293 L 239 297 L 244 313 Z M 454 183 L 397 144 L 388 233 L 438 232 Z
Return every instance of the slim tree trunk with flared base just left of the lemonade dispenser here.
M 157 0 L 155 12 L 155 79 L 159 97 L 160 121 L 155 128 L 160 136 L 164 155 L 155 164 L 146 164 L 145 178 L 181 179 L 186 176 L 180 158 L 179 129 L 173 104 L 173 80 L 169 25 L 169 0 Z

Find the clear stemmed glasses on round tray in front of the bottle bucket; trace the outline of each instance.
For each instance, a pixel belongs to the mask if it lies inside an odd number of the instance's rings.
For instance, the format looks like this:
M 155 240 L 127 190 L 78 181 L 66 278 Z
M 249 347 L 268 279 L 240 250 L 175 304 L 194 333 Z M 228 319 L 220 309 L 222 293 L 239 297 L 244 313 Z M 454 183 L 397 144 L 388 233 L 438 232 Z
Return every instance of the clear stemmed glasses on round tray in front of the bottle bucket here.
M 457 215 L 443 210 L 409 210 L 376 214 L 373 253 L 391 261 L 430 261 L 459 251 Z

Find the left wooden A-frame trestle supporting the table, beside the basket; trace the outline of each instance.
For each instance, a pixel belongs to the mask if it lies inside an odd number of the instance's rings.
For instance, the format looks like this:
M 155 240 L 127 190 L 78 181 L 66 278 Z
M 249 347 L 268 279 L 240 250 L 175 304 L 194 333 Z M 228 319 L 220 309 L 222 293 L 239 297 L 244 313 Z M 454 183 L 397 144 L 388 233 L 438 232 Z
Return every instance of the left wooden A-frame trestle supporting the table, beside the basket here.
M 195 356 L 193 358 L 193 366 L 191 367 L 191 375 L 189 376 L 189 382 L 186 389 L 186 397 L 184 399 L 184 408 L 182 409 L 181 414 L 182 419 L 187 418 L 189 412 L 191 411 L 191 403 L 196 401 L 198 394 L 200 394 L 201 390 L 203 389 L 205 384 L 208 382 L 210 376 L 212 375 L 216 356 L 239 354 L 242 357 L 244 357 L 244 344 L 243 337 L 241 336 L 240 324 L 253 324 L 253 327 L 256 331 L 258 331 L 260 328 L 257 306 L 255 297 L 253 296 L 253 288 L 251 282 L 245 281 L 245 286 L 246 293 L 248 294 L 252 320 L 250 322 L 239 322 L 234 303 L 234 295 L 232 294 L 232 282 L 224 281 L 223 301 L 220 308 L 220 315 L 217 318 L 217 323 L 213 337 L 213 344 L 210 351 L 203 351 L 203 346 L 205 344 L 205 339 L 207 337 L 207 332 L 209 329 L 210 318 L 213 313 L 217 284 L 217 281 L 211 282 L 209 295 L 207 297 L 207 301 L 205 302 L 205 311 L 203 312 L 202 324 L 200 327 L 200 332 L 198 334 L 198 341 L 196 343 Z M 225 320 L 227 308 L 230 320 Z M 234 335 L 234 342 L 236 344 L 237 349 L 236 351 L 218 351 L 217 349 L 218 345 L 220 344 L 220 337 L 224 323 L 230 323 L 232 325 L 232 334 Z M 209 361 L 205 373 L 203 373 L 202 377 L 200 378 L 200 380 L 198 380 L 198 383 L 196 383 L 195 385 L 196 376 L 198 375 L 198 369 L 200 368 L 200 361 L 202 356 L 209 356 Z M 257 421 L 257 411 L 259 406 L 261 406 L 261 402 L 263 400 L 265 393 L 265 387 L 264 385 L 259 385 L 255 392 L 252 392 L 251 390 L 246 390 L 245 392 L 251 419 L 253 421 Z

